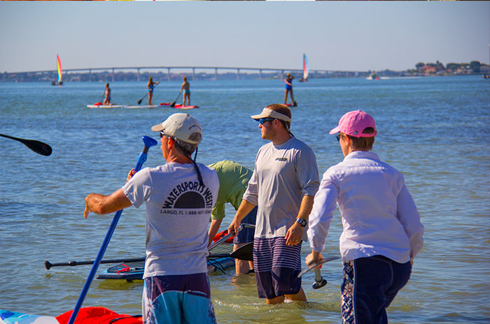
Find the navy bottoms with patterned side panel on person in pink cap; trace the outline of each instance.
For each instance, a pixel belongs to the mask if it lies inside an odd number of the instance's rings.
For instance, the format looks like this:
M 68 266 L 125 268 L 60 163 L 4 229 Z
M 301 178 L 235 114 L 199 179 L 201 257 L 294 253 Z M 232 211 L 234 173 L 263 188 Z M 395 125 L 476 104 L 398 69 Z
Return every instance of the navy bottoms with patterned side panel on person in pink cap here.
M 412 265 L 384 256 L 344 263 L 342 323 L 387 324 L 386 308 L 410 278 Z

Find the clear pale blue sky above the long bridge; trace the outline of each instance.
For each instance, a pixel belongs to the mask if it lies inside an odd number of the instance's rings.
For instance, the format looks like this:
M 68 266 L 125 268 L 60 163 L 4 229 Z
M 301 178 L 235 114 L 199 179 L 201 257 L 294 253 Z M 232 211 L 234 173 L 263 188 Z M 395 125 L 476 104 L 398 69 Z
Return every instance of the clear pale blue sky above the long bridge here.
M 0 1 L 0 73 L 489 64 L 490 1 Z

